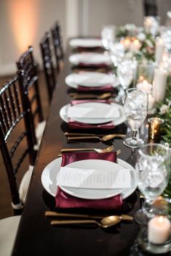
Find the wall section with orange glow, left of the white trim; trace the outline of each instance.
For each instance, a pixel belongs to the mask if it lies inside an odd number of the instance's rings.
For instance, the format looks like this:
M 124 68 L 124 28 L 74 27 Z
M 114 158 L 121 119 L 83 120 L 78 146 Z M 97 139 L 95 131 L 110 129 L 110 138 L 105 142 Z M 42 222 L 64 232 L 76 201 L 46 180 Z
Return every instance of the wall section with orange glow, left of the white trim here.
M 1 0 L 0 75 L 16 70 L 15 62 L 29 45 L 34 47 L 35 58 L 41 62 L 41 37 L 56 20 L 59 20 L 64 30 L 64 14 L 65 1 Z M 63 36 L 65 41 L 65 33 Z

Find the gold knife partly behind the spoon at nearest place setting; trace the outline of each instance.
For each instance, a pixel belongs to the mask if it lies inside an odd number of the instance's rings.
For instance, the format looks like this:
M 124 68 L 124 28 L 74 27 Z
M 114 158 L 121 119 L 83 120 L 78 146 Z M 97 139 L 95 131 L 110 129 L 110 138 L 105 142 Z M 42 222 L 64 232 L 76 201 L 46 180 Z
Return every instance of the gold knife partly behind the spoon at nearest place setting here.
M 101 219 L 107 217 L 107 215 L 83 215 L 83 214 L 73 214 L 73 213 L 64 213 L 64 212 L 53 212 L 53 211 L 46 211 L 46 217 L 75 217 L 75 218 L 94 218 L 94 219 Z M 122 220 L 133 220 L 133 217 L 130 215 L 122 214 L 120 215 Z

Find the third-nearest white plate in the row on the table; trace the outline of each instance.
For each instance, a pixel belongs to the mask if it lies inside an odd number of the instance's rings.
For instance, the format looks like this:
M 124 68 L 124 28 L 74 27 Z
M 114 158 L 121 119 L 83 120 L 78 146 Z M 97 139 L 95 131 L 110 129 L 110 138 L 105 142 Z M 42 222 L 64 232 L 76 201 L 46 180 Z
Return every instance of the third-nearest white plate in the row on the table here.
M 72 88 L 78 88 L 78 85 L 85 87 L 101 87 L 111 85 L 117 87 L 120 81 L 115 75 L 109 75 L 99 72 L 81 72 L 71 73 L 65 78 L 65 83 Z

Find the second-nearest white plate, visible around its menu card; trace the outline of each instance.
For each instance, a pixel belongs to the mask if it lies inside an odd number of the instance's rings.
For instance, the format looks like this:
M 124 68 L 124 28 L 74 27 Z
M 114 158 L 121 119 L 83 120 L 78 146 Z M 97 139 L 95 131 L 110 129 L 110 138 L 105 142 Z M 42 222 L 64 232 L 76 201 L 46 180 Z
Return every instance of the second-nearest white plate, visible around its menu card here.
M 100 106 L 103 107 L 105 103 L 101 103 L 101 102 L 87 102 L 87 103 L 80 103 L 80 104 L 75 104 L 75 106 L 81 107 L 81 105 L 87 105 L 88 104 L 92 104 L 94 105 L 94 107 L 99 108 Z M 74 120 L 80 123 L 90 123 L 90 124 L 102 124 L 102 123 L 109 123 L 109 122 L 113 122 L 114 125 L 120 125 L 121 123 L 124 123 L 126 120 L 125 117 L 125 112 L 123 107 L 120 104 L 114 103 L 112 102 L 111 104 L 105 104 L 105 106 L 113 106 L 113 107 L 117 107 L 117 109 L 120 112 L 120 117 L 114 117 L 114 118 L 96 118 L 96 119 L 88 119 L 88 118 L 75 118 Z M 62 120 L 64 120 L 64 122 L 68 123 L 69 122 L 69 117 L 67 115 L 68 112 L 68 108 L 70 107 L 70 104 L 64 105 L 61 110 L 59 111 L 59 115 L 62 118 Z

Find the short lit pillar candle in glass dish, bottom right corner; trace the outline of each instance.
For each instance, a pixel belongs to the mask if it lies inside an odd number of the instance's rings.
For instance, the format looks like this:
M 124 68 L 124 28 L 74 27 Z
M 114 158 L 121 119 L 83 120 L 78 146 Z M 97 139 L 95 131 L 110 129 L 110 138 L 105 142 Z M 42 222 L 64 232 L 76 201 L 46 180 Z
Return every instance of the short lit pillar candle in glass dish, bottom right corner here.
M 170 236 L 170 220 L 164 216 L 155 216 L 149 220 L 148 237 L 153 244 L 164 244 Z

